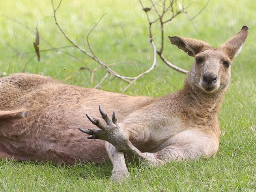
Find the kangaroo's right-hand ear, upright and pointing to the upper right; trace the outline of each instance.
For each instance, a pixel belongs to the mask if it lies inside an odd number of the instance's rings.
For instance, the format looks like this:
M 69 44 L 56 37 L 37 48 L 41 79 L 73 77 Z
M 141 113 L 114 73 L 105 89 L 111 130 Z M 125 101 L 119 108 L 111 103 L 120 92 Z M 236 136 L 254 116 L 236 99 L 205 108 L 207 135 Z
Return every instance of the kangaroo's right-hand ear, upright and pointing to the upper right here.
M 226 43 L 220 45 L 219 49 L 228 54 L 228 57 L 232 60 L 242 50 L 248 33 L 249 28 L 243 26 L 238 34 L 226 41 Z

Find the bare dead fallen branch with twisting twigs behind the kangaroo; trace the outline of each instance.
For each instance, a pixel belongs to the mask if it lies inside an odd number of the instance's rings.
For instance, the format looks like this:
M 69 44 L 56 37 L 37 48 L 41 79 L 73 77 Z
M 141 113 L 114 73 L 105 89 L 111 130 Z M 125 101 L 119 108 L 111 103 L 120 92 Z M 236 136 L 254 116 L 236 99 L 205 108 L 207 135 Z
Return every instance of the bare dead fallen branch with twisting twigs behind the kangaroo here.
M 77 48 L 78 50 L 80 50 L 82 53 L 84 53 L 86 56 L 88 56 L 89 58 L 91 58 L 92 60 L 94 60 L 95 62 L 99 63 L 99 66 L 96 67 L 95 69 L 90 69 L 90 67 L 87 67 L 87 64 L 85 62 L 83 62 L 82 60 L 80 60 L 79 58 L 77 58 L 76 56 L 72 55 L 72 54 L 69 54 L 69 52 L 64 52 L 64 51 L 61 51 L 62 53 L 64 54 L 67 54 L 69 56 L 71 56 L 72 58 L 74 58 L 75 60 L 81 62 L 81 63 L 84 63 L 84 65 L 86 65 L 86 67 L 82 67 L 82 69 L 86 69 L 88 72 L 91 73 L 91 82 L 93 82 L 93 79 L 94 79 L 94 74 L 95 74 L 95 71 L 97 71 L 98 69 L 100 68 L 103 68 L 105 69 L 105 71 L 107 71 L 107 73 L 103 76 L 103 78 L 101 79 L 101 81 L 94 87 L 94 88 L 98 88 L 99 86 L 101 86 L 101 84 L 107 79 L 107 77 L 111 74 L 113 75 L 114 77 L 118 77 L 120 78 L 121 80 L 125 81 L 125 82 L 128 82 L 129 84 L 123 89 L 123 92 L 125 92 L 132 84 L 135 84 L 136 80 L 138 80 L 138 78 L 146 75 L 147 73 L 149 73 L 150 71 L 152 71 L 156 65 L 156 62 L 157 62 L 157 54 L 159 55 L 159 57 L 161 58 L 161 60 L 166 63 L 168 66 L 172 67 L 173 69 L 175 69 L 176 71 L 179 71 L 181 73 L 188 73 L 189 71 L 185 70 L 185 69 L 181 69 L 180 67 L 172 64 L 171 62 L 169 62 L 163 55 L 163 50 L 164 50 L 164 25 L 168 22 L 171 22 L 172 19 L 174 19 L 176 16 L 178 16 L 180 13 L 186 13 L 187 14 L 187 17 L 192 20 L 194 19 L 199 13 L 202 12 L 202 10 L 207 6 L 208 2 L 206 3 L 206 5 L 194 16 L 194 17 L 189 17 L 189 14 L 187 13 L 187 11 L 185 11 L 185 8 L 183 7 L 183 4 L 182 6 L 179 5 L 179 9 L 177 8 L 177 1 L 178 0 L 168 0 L 168 2 L 166 2 L 167 0 L 158 0 L 157 2 L 154 2 L 153 0 L 149 0 L 151 6 L 149 7 L 144 7 L 144 5 L 142 4 L 142 1 L 139 0 L 141 6 L 142 6 L 142 9 L 144 10 L 144 12 L 146 13 L 146 16 L 147 16 L 147 19 L 148 19 L 148 28 L 149 28 L 149 41 L 152 45 L 152 48 L 153 48 L 153 62 L 151 64 L 151 67 L 144 71 L 143 73 L 140 73 L 139 75 L 137 76 L 134 76 L 134 77 L 129 77 L 129 76 L 122 76 L 118 73 L 116 73 L 115 71 L 113 71 L 112 69 L 110 69 L 110 66 L 113 66 L 113 65 L 117 65 L 119 63 L 124 63 L 124 62 L 116 62 L 116 63 L 112 63 L 112 64 L 106 64 L 104 62 L 102 62 L 101 60 L 99 60 L 99 58 L 96 56 L 96 54 L 93 52 L 92 50 L 92 47 L 90 45 L 90 41 L 89 41 L 89 37 L 90 37 L 90 34 L 93 32 L 93 30 L 95 29 L 95 27 L 99 24 L 99 22 L 101 21 L 101 19 L 103 18 L 103 16 L 106 14 L 103 14 L 102 17 L 99 19 L 99 21 L 92 27 L 92 29 L 88 32 L 87 36 L 86 36 L 86 41 L 87 41 L 87 45 L 88 45 L 88 48 L 89 48 L 89 51 L 85 50 L 84 48 L 80 47 L 79 45 L 77 45 L 77 43 L 75 43 L 73 40 L 71 40 L 67 34 L 64 32 L 64 30 L 62 29 L 62 27 L 60 26 L 60 24 L 58 23 L 57 21 L 57 17 L 56 17 L 56 12 L 57 10 L 59 9 L 61 3 L 62 3 L 62 0 L 60 0 L 58 6 L 55 8 L 54 6 L 54 3 L 53 3 L 53 0 L 51 0 L 51 4 L 52 4 L 52 9 L 53 9 L 53 18 L 54 18 L 54 21 L 55 21 L 55 24 L 56 26 L 58 27 L 58 29 L 60 30 L 60 32 L 64 35 L 65 39 L 67 39 L 67 41 L 69 41 L 69 43 L 71 43 L 71 45 L 67 45 L 67 46 L 64 46 L 64 47 L 58 47 L 58 48 L 54 48 L 50 43 L 48 43 L 45 39 L 43 39 L 43 37 L 41 37 L 40 35 L 40 38 L 42 38 L 44 41 L 46 41 L 48 44 L 51 45 L 51 47 L 53 48 L 48 48 L 48 49 L 43 49 L 43 50 L 40 50 L 40 52 L 44 52 L 44 51 L 60 51 L 60 49 L 63 49 L 63 48 L 68 48 L 68 47 L 75 47 Z M 158 7 L 161 7 L 160 9 Z M 157 15 L 157 18 L 151 20 L 150 17 L 149 17 L 149 13 L 151 14 L 151 12 L 153 13 L 156 13 Z M 166 19 L 166 15 L 167 16 L 170 16 Z M 7 16 L 5 16 L 7 17 Z M 10 17 L 7 17 L 7 19 L 10 19 L 10 20 L 13 20 L 15 22 L 17 22 L 18 24 L 21 24 L 23 25 L 24 27 L 26 27 L 26 29 L 28 29 L 30 32 L 33 32 L 33 30 L 26 26 L 25 24 L 23 24 L 22 22 L 19 22 L 17 21 L 16 19 L 12 19 Z M 156 45 L 155 45 L 155 42 L 154 42 L 154 36 L 152 34 L 152 25 L 159 22 L 160 23 L 160 32 L 161 32 L 161 44 L 160 44 L 160 47 L 157 48 Z M 24 52 L 24 53 L 20 53 L 20 52 L 17 52 L 17 55 L 20 56 L 20 55 L 26 55 L 26 54 L 30 54 L 30 53 L 35 53 L 34 51 L 33 52 Z M 37 52 L 36 52 L 37 53 Z M 35 55 L 34 55 L 35 56 Z M 34 58 L 34 56 L 32 58 Z M 38 56 L 38 54 L 37 54 Z M 32 60 L 32 58 L 30 58 L 28 60 L 28 62 L 30 62 Z M 27 63 L 28 63 L 27 62 Z M 26 65 L 27 65 L 26 63 Z M 128 62 L 127 62 L 128 63 Z

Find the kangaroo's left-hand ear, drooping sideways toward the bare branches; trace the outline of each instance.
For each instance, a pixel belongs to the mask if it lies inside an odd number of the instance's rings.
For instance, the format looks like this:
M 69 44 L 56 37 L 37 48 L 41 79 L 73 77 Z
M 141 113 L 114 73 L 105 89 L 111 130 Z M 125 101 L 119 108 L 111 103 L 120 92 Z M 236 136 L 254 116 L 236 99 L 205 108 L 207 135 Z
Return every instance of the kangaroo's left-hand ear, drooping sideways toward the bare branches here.
M 176 45 L 178 48 L 185 51 L 189 56 L 194 57 L 199 52 L 211 48 L 211 46 L 200 40 L 191 39 L 191 38 L 183 38 L 178 36 L 168 36 L 171 43 Z

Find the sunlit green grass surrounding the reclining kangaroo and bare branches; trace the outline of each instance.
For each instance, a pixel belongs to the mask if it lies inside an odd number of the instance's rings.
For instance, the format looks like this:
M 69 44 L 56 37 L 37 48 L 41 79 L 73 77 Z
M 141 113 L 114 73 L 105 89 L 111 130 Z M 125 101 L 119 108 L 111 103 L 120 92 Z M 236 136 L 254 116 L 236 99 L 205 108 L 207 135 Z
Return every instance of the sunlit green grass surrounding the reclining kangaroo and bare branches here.
M 50 1 L 0 1 L 0 13 L 23 22 L 48 42 L 40 41 L 40 49 L 70 45 L 58 31 L 52 17 Z M 185 0 L 191 4 L 188 11 L 195 15 L 206 3 Z M 112 183 L 110 163 L 95 166 L 61 166 L 51 163 L 0 161 L 1 191 L 256 191 L 256 4 L 248 0 L 211 0 L 192 22 L 185 14 L 166 26 L 167 35 L 180 35 L 207 41 L 218 46 L 239 32 L 243 25 L 250 29 L 242 52 L 232 64 L 232 82 L 220 113 L 222 134 L 220 149 L 215 158 L 190 162 L 171 162 L 160 168 L 129 165 L 130 179 L 123 184 Z M 145 13 L 136 0 L 64 0 L 58 10 L 58 21 L 65 32 L 84 48 L 86 34 L 98 19 L 107 13 L 90 37 L 98 57 L 110 64 L 118 61 L 136 61 L 141 65 L 120 64 L 112 69 L 122 75 L 136 75 L 148 69 L 152 62 L 152 48 L 148 42 Z M 44 73 L 67 84 L 93 87 L 105 75 L 97 71 L 95 80 L 79 70 L 84 64 L 67 54 L 56 51 L 41 52 L 41 61 L 33 54 L 15 56 L 16 51 L 33 51 L 34 32 L 0 16 L 0 73 Z M 157 38 L 157 37 L 156 37 Z M 189 69 L 193 58 L 170 45 L 166 39 L 164 54 L 172 63 Z M 11 46 L 10 46 L 11 45 Z M 90 67 L 97 63 L 75 48 L 63 50 L 80 58 Z M 27 64 L 26 64 L 27 63 Z M 158 59 L 150 74 L 140 78 L 129 95 L 159 97 L 182 88 L 186 75 L 178 73 Z M 102 89 L 121 92 L 125 82 L 108 77 Z

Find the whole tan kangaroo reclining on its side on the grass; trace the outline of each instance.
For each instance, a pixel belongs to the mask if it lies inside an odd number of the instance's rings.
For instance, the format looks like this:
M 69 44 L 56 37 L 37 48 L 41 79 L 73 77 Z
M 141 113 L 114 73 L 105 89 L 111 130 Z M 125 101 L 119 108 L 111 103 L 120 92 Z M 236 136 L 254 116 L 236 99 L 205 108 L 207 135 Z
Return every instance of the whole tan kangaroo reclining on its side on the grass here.
M 243 26 L 218 48 L 169 36 L 195 61 L 184 88 L 159 98 L 81 88 L 41 75 L 0 78 L 0 158 L 65 164 L 110 159 L 111 178 L 120 181 L 129 175 L 125 155 L 153 166 L 215 156 L 231 62 L 248 32 Z M 96 127 L 88 129 L 91 122 Z

